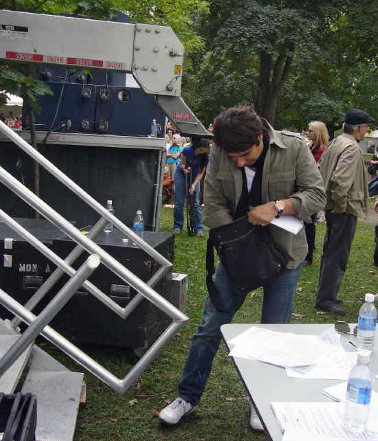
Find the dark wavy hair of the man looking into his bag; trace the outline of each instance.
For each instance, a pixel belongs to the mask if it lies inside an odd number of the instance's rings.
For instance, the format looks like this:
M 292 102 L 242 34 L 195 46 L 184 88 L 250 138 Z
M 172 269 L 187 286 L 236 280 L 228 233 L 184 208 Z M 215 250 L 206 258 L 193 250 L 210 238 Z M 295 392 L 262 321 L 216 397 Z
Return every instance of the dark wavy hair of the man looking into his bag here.
M 252 107 L 230 107 L 215 119 L 214 142 L 225 152 L 243 152 L 259 144 L 259 136 L 266 131 L 263 120 Z

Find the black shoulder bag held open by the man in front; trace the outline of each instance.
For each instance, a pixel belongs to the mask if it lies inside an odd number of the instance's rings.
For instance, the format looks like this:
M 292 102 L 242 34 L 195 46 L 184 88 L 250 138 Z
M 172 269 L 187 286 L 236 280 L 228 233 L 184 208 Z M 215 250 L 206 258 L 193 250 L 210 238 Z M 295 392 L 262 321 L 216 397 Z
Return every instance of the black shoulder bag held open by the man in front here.
M 267 227 L 252 225 L 247 216 L 210 230 L 206 249 L 206 284 L 214 308 L 225 308 L 212 280 L 215 273 L 214 249 L 232 284 L 246 295 L 265 282 L 274 280 L 286 268 L 286 258 L 276 247 Z

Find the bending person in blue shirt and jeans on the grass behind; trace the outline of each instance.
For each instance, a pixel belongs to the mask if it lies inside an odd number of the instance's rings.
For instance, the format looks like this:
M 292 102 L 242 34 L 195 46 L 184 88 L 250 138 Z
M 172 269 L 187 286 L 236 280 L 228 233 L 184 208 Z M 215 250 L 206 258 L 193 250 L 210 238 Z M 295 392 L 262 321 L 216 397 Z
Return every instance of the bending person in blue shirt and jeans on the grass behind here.
M 188 193 L 194 194 L 194 229 L 203 236 L 202 208 L 199 203 L 200 183 L 208 166 L 209 141 L 193 138 L 192 145 L 181 152 L 175 173 L 175 210 L 173 211 L 173 234 L 181 233 L 184 225 L 184 203 Z

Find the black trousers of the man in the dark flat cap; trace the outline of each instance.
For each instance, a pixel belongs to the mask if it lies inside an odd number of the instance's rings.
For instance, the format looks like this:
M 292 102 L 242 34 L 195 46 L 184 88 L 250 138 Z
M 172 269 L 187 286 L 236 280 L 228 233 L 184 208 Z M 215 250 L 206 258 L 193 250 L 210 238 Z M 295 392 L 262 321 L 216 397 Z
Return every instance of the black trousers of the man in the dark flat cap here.
M 353 214 L 326 212 L 327 229 L 316 295 L 318 307 L 329 308 L 335 304 L 346 264 L 348 264 L 356 224 L 357 217 Z

